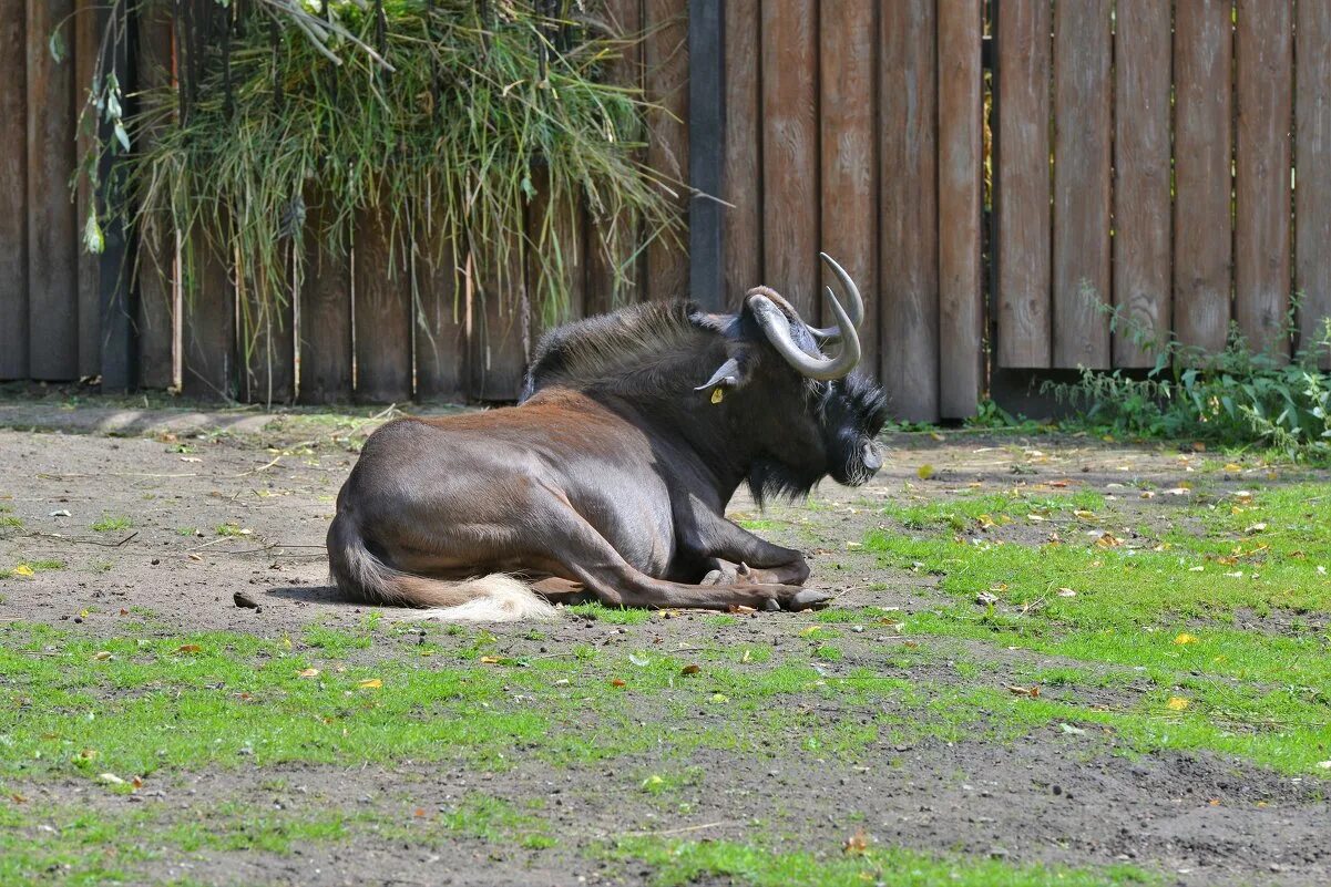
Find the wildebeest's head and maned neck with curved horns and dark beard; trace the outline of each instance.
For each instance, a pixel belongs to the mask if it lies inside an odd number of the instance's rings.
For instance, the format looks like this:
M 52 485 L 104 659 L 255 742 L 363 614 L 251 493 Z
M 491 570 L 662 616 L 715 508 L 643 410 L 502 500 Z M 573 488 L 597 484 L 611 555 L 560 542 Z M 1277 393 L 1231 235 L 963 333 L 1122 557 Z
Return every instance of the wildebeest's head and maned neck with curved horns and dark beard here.
M 683 302 L 639 305 L 547 334 L 523 399 L 571 387 L 624 403 L 683 434 L 709 459 L 735 460 L 759 501 L 804 495 L 828 475 L 862 484 L 882 465 L 874 439 L 886 399 L 855 372 L 860 293 L 841 266 L 823 259 L 848 299 L 843 307 L 827 289 L 831 327 L 809 327 L 763 286 L 748 291 L 737 314 Z

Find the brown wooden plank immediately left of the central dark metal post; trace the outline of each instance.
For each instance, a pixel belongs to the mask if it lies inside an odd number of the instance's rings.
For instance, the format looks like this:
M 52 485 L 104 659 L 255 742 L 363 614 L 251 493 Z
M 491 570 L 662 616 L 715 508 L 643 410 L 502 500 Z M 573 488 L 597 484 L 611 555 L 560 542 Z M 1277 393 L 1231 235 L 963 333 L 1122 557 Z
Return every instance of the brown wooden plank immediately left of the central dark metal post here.
M 688 3 L 644 0 L 643 44 L 647 97 L 660 108 L 647 116 L 647 162 L 677 182 L 676 203 L 685 203 L 688 180 Z M 651 299 L 688 297 L 688 243 L 656 238 L 647 247 L 644 295 Z

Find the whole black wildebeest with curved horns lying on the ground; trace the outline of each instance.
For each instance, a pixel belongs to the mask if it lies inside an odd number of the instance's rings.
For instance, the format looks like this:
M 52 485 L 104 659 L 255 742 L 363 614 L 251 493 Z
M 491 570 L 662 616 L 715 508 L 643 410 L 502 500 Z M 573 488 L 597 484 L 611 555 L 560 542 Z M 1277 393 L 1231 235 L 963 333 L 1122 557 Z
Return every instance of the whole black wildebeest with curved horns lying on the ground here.
M 864 305 L 823 258 L 851 306 L 828 287 L 833 327 L 805 326 L 767 287 L 733 315 L 639 305 L 547 334 L 516 407 L 379 428 L 329 528 L 338 588 L 473 620 L 542 614 L 574 592 L 624 606 L 824 604 L 797 551 L 724 517 L 743 483 L 761 503 L 828 475 L 862 484 L 882 464 L 885 398 L 852 372 Z

